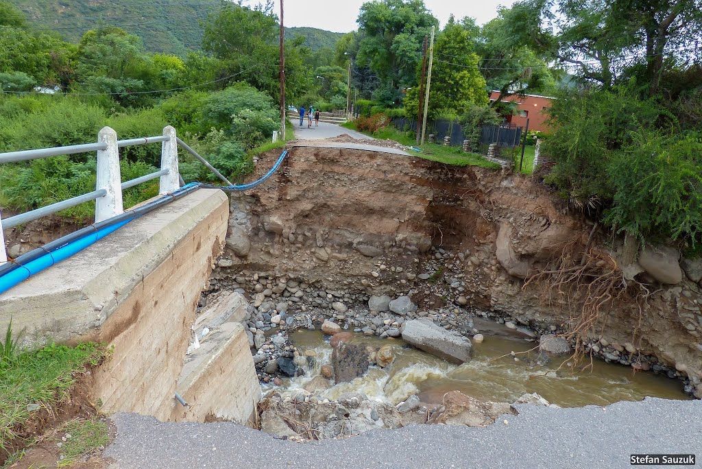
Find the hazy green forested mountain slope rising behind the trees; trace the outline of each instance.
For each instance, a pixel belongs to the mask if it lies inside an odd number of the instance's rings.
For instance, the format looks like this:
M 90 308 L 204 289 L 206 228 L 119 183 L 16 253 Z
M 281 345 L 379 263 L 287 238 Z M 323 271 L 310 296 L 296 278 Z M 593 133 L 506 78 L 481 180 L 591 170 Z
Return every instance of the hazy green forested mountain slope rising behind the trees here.
M 36 27 L 46 27 L 67 41 L 78 42 L 88 29 L 118 26 L 144 41 L 147 51 L 185 55 L 200 48 L 207 18 L 221 2 L 214 0 L 13 0 Z M 286 28 L 285 37 L 307 38 L 316 51 L 335 47 L 343 34 L 311 27 Z

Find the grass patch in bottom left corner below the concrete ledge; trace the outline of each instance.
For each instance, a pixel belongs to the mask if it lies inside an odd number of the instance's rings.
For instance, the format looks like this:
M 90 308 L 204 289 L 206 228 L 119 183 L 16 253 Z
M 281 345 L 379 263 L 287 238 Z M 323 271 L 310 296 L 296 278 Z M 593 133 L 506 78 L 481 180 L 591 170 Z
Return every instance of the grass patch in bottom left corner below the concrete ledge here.
M 84 343 L 75 348 L 46 345 L 18 351 L 0 363 L 0 451 L 17 437 L 32 417 L 32 407 L 52 410 L 67 396 L 75 374 L 97 365 L 107 355 L 103 345 Z

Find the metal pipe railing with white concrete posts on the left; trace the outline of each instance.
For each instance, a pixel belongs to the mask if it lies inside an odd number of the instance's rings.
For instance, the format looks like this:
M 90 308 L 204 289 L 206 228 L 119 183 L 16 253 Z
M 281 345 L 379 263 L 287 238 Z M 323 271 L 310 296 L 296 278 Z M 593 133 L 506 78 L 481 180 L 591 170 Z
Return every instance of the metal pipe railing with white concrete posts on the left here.
M 150 143 L 161 143 L 161 170 L 123 183 L 121 181 L 119 169 L 119 149 Z M 0 239 L 2 241 L 0 247 L 0 265 L 6 263 L 8 260 L 4 237 L 4 230 L 8 228 L 22 225 L 23 223 L 51 215 L 51 213 L 70 209 L 79 204 L 84 204 L 85 202 L 91 202 L 93 200 L 95 201 L 95 223 L 107 220 L 108 218 L 124 213 L 122 191 L 156 178 L 160 179 L 159 194 L 168 194 L 178 190 L 180 183 L 183 181 L 178 172 L 178 143 L 189 152 L 195 153 L 190 147 L 187 147 L 185 143 L 178 139 L 176 136 L 176 129 L 171 126 L 164 128 L 164 134 L 162 136 L 132 138 L 129 140 L 117 140 L 117 133 L 112 128 L 105 127 L 98 133 L 97 143 L 0 153 L 0 163 L 18 163 L 20 161 L 58 157 L 67 154 L 98 153 L 97 182 L 93 192 L 44 206 L 41 207 L 41 209 L 21 213 L 20 215 L 15 215 L 5 220 L 2 220 L 0 214 L 0 220 L 2 222 L 0 224 Z M 218 173 L 218 176 L 229 183 L 221 174 Z

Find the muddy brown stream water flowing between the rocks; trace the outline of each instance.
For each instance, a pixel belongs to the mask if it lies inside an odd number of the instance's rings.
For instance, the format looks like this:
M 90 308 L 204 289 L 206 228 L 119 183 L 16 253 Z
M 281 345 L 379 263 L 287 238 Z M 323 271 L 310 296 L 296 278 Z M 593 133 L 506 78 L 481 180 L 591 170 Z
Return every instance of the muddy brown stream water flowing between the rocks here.
M 301 353 L 312 350 L 316 357 L 314 368 L 305 370 L 306 376 L 285 383 L 289 388 L 301 388 L 319 374 L 322 364 L 331 362 L 331 347 L 329 338 L 325 341 L 319 331 L 297 331 L 291 339 Z M 535 344 L 519 339 L 486 336 L 483 343 L 473 346 L 472 360 L 460 366 L 400 340 L 359 336 L 354 341 L 374 348 L 392 344 L 395 361 L 385 369 L 373 366 L 366 376 L 333 386 L 322 397 L 333 400 L 344 392 L 360 391 L 371 399 L 397 404 L 416 394 L 422 402 L 439 404 L 450 390 L 494 402 L 514 402 L 524 393 L 537 392 L 561 407 L 607 405 L 647 396 L 688 399 L 680 381 L 651 373 L 634 374 L 625 366 L 596 360 L 591 370 L 577 372 L 571 370 L 567 359 L 543 363 L 537 353 L 528 352 Z M 512 352 L 518 361 L 510 355 Z

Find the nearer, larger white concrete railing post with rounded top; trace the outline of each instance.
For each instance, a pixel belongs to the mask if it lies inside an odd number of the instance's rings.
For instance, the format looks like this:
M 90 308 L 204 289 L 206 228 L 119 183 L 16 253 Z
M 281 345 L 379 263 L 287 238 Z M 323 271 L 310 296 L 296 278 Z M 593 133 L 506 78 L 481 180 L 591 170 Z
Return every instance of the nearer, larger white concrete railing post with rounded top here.
M 110 127 L 103 127 L 98 133 L 98 143 L 105 143 L 107 148 L 98 150 L 98 182 L 95 190 L 104 189 L 107 194 L 95 200 L 95 223 L 124 213 L 117 132 Z

